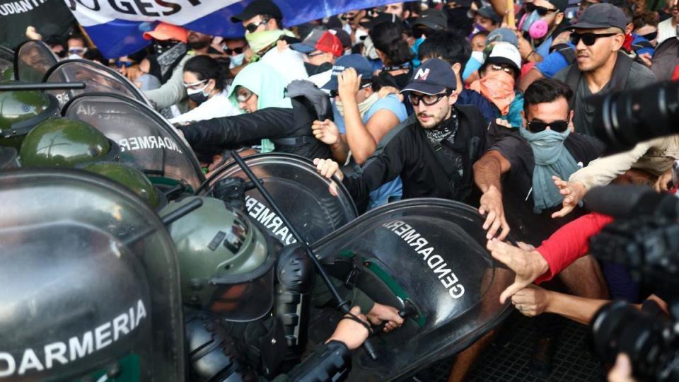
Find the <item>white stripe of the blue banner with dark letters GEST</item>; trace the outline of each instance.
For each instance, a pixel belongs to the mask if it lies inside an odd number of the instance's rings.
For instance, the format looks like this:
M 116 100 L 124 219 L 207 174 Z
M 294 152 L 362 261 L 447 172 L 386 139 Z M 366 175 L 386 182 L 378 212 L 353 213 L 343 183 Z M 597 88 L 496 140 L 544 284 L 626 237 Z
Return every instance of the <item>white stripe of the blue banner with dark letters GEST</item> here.
M 83 26 L 127 21 L 185 25 L 241 0 L 64 0 Z

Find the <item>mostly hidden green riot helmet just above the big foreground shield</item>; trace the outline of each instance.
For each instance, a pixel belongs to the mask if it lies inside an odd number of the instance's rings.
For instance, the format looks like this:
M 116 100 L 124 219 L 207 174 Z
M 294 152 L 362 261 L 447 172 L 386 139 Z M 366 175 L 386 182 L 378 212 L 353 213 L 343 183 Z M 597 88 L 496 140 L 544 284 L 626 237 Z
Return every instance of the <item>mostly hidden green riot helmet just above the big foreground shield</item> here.
M 158 209 L 167 204 L 163 193 L 153 187 L 144 173 L 133 168 L 131 163 L 97 162 L 88 164 L 83 168 L 124 185 L 128 190 L 141 197 L 152 209 Z

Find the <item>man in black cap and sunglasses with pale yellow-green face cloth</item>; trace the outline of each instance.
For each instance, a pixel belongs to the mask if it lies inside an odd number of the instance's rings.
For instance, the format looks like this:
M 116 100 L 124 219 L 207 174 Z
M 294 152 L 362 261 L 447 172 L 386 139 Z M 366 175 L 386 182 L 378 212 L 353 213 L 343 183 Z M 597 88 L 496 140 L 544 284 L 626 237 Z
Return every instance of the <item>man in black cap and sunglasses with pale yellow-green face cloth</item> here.
M 302 54 L 278 45 L 279 41 L 299 42 L 293 33 L 283 29 L 282 19 L 281 9 L 271 0 L 255 0 L 245 6 L 243 12 L 231 17 L 233 23 L 243 24 L 245 40 L 254 54 L 245 57 L 246 62 L 261 60 L 278 71 L 286 83 L 307 79 Z

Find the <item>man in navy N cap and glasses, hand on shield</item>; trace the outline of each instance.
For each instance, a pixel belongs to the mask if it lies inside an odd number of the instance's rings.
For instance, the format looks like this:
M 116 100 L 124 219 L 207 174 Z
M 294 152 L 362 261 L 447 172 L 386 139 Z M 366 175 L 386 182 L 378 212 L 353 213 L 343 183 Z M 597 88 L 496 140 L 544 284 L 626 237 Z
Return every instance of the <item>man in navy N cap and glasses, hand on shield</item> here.
M 472 165 L 486 146 L 488 122 L 475 106 L 458 106 L 451 65 L 428 59 L 402 90 L 412 103 L 414 122 L 400 129 L 362 171 L 344 176 L 337 163 L 315 159 L 328 178 L 337 175 L 359 204 L 383 183 L 401 177 L 403 199 L 440 197 L 467 201 L 472 192 Z

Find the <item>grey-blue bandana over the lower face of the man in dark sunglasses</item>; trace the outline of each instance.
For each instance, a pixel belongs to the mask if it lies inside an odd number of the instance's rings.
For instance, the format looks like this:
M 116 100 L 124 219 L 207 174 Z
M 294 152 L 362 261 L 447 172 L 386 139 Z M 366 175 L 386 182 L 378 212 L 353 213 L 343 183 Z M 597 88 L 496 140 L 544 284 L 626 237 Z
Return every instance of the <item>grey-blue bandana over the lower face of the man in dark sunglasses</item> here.
M 533 149 L 535 167 L 533 168 L 533 212 L 540 214 L 543 209 L 555 207 L 564 199 L 559 189 L 554 185 L 552 175 L 568 179 L 572 173 L 579 170 L 571 153 L 564 147 L 564 141 L 571 133 L 553 130 L 542 130 L 532 133 L 521 127 L 521 137 L 525 138 Z

